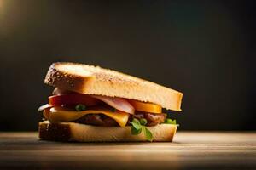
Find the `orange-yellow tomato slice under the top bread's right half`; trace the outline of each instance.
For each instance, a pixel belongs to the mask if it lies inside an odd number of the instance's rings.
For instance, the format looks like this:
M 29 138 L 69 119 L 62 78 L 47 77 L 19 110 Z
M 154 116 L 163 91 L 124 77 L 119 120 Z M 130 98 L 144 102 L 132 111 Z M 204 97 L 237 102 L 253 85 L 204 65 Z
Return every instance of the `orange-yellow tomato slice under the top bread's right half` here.
M 150 113 L 162 113 L 162 107 L 153 103 L 146 103 L 142 101 L 137 101 L 134 99 L 129 99 L 131 105 L 136 111 L 150 112 Z

